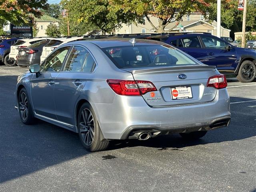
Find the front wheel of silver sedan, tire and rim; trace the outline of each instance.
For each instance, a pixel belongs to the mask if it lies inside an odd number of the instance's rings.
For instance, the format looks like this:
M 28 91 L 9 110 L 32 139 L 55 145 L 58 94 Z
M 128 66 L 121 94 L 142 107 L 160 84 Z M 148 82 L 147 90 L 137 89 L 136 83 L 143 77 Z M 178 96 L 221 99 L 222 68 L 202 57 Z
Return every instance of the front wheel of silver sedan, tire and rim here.
M 25 88 L 22 88 L 19 92 L 18 110 L 20 114 L 20 119 L 24 124 L 30 125 L 35 122 L 33 110 L 28 98 L 28 93 Z

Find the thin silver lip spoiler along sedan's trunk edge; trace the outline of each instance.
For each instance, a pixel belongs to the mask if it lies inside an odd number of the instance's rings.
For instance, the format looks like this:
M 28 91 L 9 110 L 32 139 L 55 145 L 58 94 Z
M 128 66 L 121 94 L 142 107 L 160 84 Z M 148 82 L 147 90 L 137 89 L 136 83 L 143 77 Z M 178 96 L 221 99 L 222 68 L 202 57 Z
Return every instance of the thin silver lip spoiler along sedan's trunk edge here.
M 216 66 L 208 65 L 187 65 L 187 66 L 168 66 L 168 67 L 152 67 L 152 68 L 122 68 L 122 70 L 131 72 L 132 74 L 140 74 L 145 72 L 160 72 L 160 71 L 170 71 L 170 70 L 190 70 L 190 69 L 214 69 Z

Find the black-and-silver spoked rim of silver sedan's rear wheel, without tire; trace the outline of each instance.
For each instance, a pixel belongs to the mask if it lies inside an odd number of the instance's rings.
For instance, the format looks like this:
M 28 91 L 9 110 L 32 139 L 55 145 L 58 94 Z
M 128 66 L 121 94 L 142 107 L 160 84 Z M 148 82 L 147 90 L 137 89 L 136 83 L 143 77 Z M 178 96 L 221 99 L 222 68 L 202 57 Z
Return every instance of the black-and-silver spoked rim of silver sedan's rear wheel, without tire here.
M 80 115 L 80 134 L 84 144 L 91 145 L 94 139 L 94 119 L 88 109 L 82 110 Z

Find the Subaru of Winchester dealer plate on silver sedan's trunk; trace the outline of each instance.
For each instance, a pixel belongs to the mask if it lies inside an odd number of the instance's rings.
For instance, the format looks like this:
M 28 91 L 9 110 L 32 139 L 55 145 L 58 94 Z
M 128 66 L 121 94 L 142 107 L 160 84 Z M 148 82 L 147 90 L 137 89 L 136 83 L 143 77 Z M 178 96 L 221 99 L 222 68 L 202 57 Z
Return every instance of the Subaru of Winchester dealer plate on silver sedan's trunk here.
M 172 100 L 193 98 L 190 86 L 180 86 L 171 88 Z

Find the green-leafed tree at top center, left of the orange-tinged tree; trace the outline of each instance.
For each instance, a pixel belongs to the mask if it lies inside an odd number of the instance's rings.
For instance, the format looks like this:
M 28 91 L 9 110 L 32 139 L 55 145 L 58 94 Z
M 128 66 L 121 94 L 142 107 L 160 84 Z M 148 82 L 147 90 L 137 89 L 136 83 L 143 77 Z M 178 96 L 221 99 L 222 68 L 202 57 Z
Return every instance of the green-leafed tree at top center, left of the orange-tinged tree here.
M 97 27 L 103 34 L 120 27 L 122 23 L 143 21 L 136 13 L 124 12 L 122 7 L 116 7 L 109 0 L 62 0 L 61 4 L 68 11 L 70 22 Z

